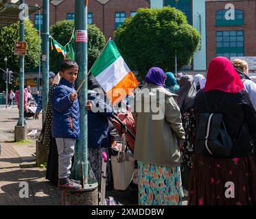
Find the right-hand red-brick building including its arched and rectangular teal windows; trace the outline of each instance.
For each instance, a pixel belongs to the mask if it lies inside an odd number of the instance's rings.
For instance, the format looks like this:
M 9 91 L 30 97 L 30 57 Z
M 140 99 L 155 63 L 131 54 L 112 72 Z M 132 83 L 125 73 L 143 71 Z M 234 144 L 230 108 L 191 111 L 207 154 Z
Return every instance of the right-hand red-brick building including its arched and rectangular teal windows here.
M 234 16 L 225 9 L 234 6 Z M 232 6 L 231 5 L 231 6 Z M 207 66 L 213 57 L 256 56 L 256 1 L 206 2 Z

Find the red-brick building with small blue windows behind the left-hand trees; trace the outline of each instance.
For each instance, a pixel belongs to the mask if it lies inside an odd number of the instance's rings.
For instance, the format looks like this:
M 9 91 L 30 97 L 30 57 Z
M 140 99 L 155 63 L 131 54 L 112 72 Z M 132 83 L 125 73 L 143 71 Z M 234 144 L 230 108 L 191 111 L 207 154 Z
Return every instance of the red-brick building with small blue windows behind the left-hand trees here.
M 26 0 L 27 4 L 42 5 L 42 0 Z M 50 1 L 50 25 L 58 21 L 74 20 L 75 18 L 75 0 Z M 113 37 L 115 29 L 124 22 L 124 18 L 132 16 L 138 8 L 150 8 L 150 0 L 89 0 L 88 5 L 88 23 L 93 23 L 99 27 L 106 39 Z M 41 13 L 42 13 L 41 9 Z M 43 16 L 32 14 L 30 19 L 38 28 L 39 20 L 42 25 Z

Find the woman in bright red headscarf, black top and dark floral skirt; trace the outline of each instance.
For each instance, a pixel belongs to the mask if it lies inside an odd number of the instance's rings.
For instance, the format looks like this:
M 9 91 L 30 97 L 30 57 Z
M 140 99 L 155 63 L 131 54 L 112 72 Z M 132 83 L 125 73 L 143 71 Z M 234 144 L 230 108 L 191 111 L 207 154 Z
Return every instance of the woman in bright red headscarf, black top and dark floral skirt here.
M 205 88 L 196 94 L 195 112 L 197 118 L 203 113 L 222 114 L 234 144 L 229 157 L 221 158 L 202 155 L 196 148 L 189 205 L 256 205 L 255 112 L 226 57 L 211 60 Z

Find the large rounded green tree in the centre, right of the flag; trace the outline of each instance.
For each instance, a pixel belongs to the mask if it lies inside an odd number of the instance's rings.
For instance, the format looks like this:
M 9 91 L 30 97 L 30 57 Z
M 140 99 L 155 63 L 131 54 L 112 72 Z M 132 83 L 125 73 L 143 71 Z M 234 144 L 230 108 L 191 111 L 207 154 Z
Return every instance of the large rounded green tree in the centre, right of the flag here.
M 189 64 L 198 49 L 200 35 L 180 10 L 141 8 L 115 32 L 115 42 L 132 70 L 144 77 L 152 66 L 175 69 Z

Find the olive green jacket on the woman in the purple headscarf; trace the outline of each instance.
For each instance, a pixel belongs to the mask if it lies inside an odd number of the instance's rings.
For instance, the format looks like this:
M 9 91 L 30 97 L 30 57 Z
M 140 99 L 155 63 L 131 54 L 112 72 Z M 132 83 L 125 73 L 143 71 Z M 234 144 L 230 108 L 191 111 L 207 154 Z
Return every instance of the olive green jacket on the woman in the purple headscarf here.
M 135 159 L 162 166 L 181 164 L 185 140 L 176 94 L 146 83 L 135 96 L 132 115 L 137 122 Z

